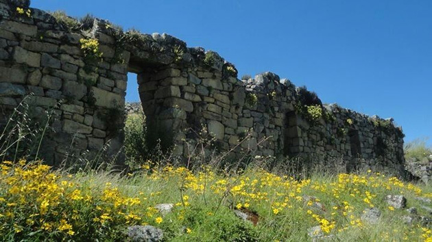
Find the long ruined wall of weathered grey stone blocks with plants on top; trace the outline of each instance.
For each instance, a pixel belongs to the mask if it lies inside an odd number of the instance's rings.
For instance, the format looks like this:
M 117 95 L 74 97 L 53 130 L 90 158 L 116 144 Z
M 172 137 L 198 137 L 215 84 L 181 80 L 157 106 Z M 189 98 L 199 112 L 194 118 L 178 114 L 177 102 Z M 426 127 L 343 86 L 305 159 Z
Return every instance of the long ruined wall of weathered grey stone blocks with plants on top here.
M 240 80 L 217 53 L 166 33 L 123 32 L 97 18 L 76 21 L 29 8 L 25 0 L 0 0 L 0 18 L 0 118 L 4 123 L 29 94 L 36 113 L 51 110 L 50 138 L 43 141 L 51 164 L 107 142 L 106 153 L 116 155 L 126 85 L 138 81 L 147 139 L 180 156 L 204 127 L 221 152 L 361 157 L 371 168 L 403 170 L 403 133 L 391 119 L 322 105 L 272 72 Z M 128 72 L 138 80 L 128 80 Z

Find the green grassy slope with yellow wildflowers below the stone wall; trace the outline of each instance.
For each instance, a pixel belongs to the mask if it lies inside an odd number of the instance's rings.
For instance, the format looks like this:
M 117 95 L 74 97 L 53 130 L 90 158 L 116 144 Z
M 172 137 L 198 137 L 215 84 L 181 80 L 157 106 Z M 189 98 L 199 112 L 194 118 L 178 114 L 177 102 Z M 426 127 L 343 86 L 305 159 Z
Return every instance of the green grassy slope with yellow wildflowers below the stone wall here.
M 143 165 L 123 176 L 69 174 L 24 160 L 5 161 L 0 169 L 4 241 L 124 241 L 126 228 L 135 224 L 161 228 L 165 241 L 311 241 L 314 226 L 326 241 L 432 241 L 425 218 L 405 224 L 401 217 L 409 213 L 385 201 L 402 194 L 407 208 L 427 215 L 428 201 L 416 198 L 432 198 L 432 189 L 378 173 L 296 180 L 252 165 L 231 174 Z M 174 205 L 165 216 L 155 208 L 162 203 Z M 361 219 L 372 207 L 382 212 L 377 224 Z

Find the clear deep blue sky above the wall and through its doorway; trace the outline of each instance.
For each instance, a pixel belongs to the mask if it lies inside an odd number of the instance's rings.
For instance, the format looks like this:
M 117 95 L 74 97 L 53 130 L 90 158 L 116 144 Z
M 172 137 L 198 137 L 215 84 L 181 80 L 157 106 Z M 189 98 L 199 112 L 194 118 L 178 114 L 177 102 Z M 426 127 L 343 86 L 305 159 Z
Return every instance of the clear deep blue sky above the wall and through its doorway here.
M 324 103 L 432 138 L 432 1 L 32 0 L 217 51 L 239 75 L 276 72 Z M 139 100 L 134 77 L 127 100 Z M 432 140 L 429 139 L 429 144 Z

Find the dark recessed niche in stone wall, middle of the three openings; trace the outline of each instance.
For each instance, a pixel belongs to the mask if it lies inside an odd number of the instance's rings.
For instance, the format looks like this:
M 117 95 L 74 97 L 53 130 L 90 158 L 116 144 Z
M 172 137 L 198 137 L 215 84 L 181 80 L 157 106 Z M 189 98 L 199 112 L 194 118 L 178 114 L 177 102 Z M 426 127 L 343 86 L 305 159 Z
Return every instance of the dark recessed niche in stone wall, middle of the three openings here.
M 301 130 L 297 125 L 297 116 L 290 111 L 285 116 L 284 148 L 283 153 L 288 157 L 295 157 L 302 151 Z

